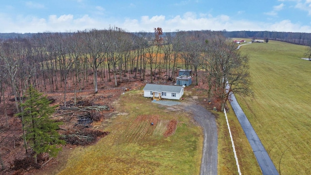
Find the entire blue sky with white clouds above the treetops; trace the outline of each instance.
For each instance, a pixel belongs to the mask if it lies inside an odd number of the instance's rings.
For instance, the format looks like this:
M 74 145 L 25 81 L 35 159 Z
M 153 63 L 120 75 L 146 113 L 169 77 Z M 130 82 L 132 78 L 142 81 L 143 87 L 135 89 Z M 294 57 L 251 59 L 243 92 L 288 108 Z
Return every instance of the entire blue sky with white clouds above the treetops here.
M 0 33 L 120 27 L 311 33 L 311 0 L 0 0 Z

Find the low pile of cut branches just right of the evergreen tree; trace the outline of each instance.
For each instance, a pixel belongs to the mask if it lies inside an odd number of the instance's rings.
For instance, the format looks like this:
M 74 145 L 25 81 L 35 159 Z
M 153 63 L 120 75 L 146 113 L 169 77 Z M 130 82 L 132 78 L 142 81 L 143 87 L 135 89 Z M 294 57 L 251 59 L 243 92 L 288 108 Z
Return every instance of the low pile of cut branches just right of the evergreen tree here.
M 99 131 L 92 129 L 70 129 L 67 130 L 61 137 L 67 143 L 72 145 L 89 145 L 96 143 L 99 138 L 108 135 L 108 131 Z

